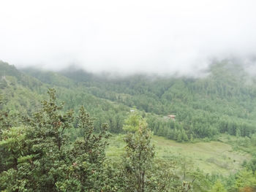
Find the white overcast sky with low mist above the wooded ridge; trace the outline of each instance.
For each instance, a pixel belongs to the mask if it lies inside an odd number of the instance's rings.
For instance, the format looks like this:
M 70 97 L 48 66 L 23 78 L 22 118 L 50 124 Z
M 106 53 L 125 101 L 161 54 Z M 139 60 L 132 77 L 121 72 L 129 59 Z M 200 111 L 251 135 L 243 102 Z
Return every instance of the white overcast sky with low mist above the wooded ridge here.
M 1 0 L 0 60 L 18 68 L 200 74 L 256 69 L 255 0 Z

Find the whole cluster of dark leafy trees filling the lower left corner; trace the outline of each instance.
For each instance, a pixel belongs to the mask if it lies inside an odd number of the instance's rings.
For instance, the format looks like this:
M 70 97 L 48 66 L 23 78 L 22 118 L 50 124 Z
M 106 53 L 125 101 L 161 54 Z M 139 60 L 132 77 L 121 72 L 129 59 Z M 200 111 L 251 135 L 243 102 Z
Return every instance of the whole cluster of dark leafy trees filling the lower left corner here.
M 69 144 L 65 130 L 72 111 L 62 112 L 55 90 L 29 119 L 30 126 L 12 127 L 1 134 L 0 188 L 7 191 L 100 191 L 105 185 L 104 161 L 108 126 L 94 134 L 93 120 L 80 108 L 78 128 L 83 140 Z M 5 156 L 2 156 L 5 155 Z

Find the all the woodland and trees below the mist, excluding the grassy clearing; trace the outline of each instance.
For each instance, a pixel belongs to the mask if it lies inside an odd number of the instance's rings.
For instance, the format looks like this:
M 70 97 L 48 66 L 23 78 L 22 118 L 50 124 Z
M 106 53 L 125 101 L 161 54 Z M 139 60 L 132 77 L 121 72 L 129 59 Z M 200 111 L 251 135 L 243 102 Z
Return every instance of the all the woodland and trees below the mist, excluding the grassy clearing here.
M 255 82 L 231 61 L 202 77 L 0 62 L 0 191 L 255 191 Z M 113 161 L 106 150 L 118 134 L 125 147 Z M 154 135 L 191 144 L 226 135 L 251 158 L 228 176 L 206 174 L 186 158 L 159 158 Z

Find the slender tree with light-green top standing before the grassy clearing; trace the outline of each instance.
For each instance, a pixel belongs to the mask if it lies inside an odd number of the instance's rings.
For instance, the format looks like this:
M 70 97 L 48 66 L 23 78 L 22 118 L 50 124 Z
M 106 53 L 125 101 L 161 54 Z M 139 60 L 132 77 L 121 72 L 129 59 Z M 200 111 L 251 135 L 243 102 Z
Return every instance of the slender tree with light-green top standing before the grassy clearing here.
M 128 131 L 124 141 L 127 143 L 124 157 L 124 179 L 126 191 L 148 191 L 154 160 L 154 146 L 151 145 L 151 131 L 146 120 L 134 113 L 125 120 L 124 130 Z

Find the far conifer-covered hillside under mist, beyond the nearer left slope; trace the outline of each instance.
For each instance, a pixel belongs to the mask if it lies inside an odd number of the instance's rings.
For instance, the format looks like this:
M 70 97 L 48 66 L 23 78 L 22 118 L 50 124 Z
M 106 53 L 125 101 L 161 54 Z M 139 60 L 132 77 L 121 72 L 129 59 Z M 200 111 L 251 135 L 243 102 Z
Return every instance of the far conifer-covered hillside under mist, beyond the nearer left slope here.
M 255 133 L 255 78 L 243 66 L 228 61 L 212 64 L 208 75 L 198 78 L 104 77 L 72 69 L 59 74 L 24 72 L 50 85 L 76 88 L 140 110 L 154 134 L 170 139 L 212 139 L 219 133 L 249 137 Z M 72 99 L 64 100 L 69 104 Z M 176 122 L 166 120 L 167 115 L 176 115 Z M 181 132 L 186 135 L 178 138 Z

